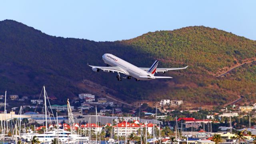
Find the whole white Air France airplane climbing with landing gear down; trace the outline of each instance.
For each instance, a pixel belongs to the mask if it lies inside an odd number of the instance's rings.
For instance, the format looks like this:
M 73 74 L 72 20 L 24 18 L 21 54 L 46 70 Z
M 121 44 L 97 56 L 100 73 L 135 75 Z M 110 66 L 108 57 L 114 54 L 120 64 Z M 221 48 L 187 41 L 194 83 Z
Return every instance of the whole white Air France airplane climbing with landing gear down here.
M 139 68 L 137 66 L 134 66 L 130 64 L 129 62 L 126 62 L 125 60 L 122 60 L 121 58 L 118 58 L 117 56 L 114 56 L 113 54 L 103 54 L 102 59 L 107 66 L 91 66 L 87 63 L 87 66 L 92 67 L 92 70 L 94 72 L 99 72 L 100 70 L 103 70 L 104 72 L 117 72 L 117 80 L 122 80 L 120 73 L 124 74 L 127 78 L 131 79 L 134 77 L 136 81 L 140 80 L 153 80 L 157 78 L 172 78 L 169 76 L 154 76 L 157 72 L 168 72 L 169 70 L 182 70 L 186 69 L 188 66 L 184 68 L 157 68 L 158 61 L 156 60 L 154 64 L 150 68 Z

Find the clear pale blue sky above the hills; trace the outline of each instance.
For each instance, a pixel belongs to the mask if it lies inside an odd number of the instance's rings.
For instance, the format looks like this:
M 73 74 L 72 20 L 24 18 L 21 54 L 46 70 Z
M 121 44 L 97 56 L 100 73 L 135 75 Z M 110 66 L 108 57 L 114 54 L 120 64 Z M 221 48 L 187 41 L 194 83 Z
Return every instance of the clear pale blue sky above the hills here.
M 256 40 L 255 6 L 256 0 L 6 0 L 0 4 L 0 20 L 94 41 L 200 25 Z

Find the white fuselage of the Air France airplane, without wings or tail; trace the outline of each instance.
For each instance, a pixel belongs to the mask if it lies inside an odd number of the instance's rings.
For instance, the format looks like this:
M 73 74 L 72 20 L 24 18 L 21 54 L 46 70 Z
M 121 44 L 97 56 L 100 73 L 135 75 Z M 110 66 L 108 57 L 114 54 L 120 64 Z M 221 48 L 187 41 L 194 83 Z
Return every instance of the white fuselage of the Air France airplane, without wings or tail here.
M 151 80 L 150 78 L 141 78 L 140 76 L 152 76 L 152 74 L 130 64 L 129 62 L 126 62 L 125 60 L 122 60 L 121 58 L 118 58 L 117 56 L 114 56 L 113 54 L 103 54 L 102 59 L 110 66 L 119 66 L 122 68 L 127 76 L 132 76 L 138 80 Z

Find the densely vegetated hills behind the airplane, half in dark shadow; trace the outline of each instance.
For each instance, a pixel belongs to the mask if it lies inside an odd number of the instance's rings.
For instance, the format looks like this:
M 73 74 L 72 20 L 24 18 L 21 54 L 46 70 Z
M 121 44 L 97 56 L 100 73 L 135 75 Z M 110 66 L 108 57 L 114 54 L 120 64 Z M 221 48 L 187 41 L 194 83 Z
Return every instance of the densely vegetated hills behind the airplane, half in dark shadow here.
M 95 73 L 86 66 L 105 66 L 104 53 L 150 67 L 186 66 L 164 74 L 172 80 L 116 80 L 116 74 Z M 225 104 L 240 95 L 255 99 L 255 65 L 232 76 L 216 77 L 229 67 L 256 57 L 256 41 L 204 26 L 149 32 L 130 40 L 94 42 L 49 36 L 13 20 L 0 22 L 0 93 L 31 96 L 45 84 L 59 104 L 78 93 L 109 93 L 122 100 L 182 99 L 197 105 Z M 248 74 L 243 74 L 244 72 Z M 163 75 L 163 74 L 157 74 Z M 242 75 L 242 76 L 241 76 Z M 248 80 L 250 79 L 250 80 Z M 95 88 L 97 87 L 97 88 Z

